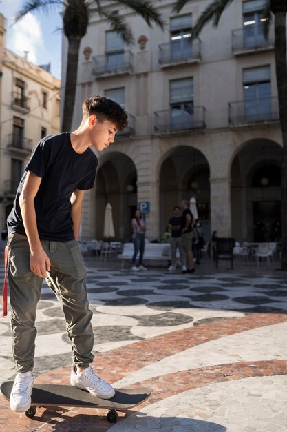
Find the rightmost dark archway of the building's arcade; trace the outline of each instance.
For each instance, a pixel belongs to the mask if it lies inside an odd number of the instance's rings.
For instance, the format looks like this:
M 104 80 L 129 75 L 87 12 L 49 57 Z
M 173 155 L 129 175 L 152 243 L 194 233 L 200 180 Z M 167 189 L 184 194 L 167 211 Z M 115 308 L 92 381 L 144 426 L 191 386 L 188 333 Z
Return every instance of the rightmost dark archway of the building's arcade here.
M 231 165 L 232 236 L 271 242 L 281 237 L 281 154 L 274 141 L 244 144 Z

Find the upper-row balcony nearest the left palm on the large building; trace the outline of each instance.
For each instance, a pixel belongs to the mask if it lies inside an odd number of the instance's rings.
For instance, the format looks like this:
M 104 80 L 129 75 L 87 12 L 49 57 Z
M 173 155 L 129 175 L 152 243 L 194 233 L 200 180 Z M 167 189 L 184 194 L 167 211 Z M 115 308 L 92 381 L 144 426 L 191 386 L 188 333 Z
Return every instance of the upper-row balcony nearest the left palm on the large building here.
M 133 54 L 131 51 L 93 57 L 92 74 L 98 79 L 113 75 L 130 75 L 132 72 Z

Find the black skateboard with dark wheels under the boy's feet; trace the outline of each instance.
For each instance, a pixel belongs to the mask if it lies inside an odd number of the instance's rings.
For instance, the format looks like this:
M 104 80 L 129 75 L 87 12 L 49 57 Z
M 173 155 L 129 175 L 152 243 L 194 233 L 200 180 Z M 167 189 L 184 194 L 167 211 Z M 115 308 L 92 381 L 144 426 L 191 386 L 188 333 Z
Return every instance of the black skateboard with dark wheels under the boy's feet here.
M 6 399 L 10 399 L 13 382 L 6 381 L 1 385 L 1 393 Z M 129 411 L 130 408 L 142 403 L 151 395 L 151 390 L 145 387 L 137 389 L 115 389 L 116 394 L 111 399 L 100 399 L 91 395 L 88 391 L 77 389 L 74 386 L 55 384 L 34 384 L 32 389 L 32 403 L 25 415 L 33 418 L 36 414 L 36 406 L 74 406 L 83 408 L 108 409 L 107 420 L 116 422 L 117 411 Z

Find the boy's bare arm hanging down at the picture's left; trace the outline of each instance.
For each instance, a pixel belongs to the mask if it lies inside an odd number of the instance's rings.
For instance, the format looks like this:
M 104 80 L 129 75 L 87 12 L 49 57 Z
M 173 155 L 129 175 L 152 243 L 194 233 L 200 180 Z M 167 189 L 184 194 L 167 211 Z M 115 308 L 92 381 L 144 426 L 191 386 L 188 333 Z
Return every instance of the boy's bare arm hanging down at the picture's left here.
M 41 184 L 41 177 L 28 172 L 19 197 L 19 206 L 30 246 L 30 268 L 39 277 L 46 277 L 50 271 L 50 259 L 47 257 L 39 238 L 34 198 Z

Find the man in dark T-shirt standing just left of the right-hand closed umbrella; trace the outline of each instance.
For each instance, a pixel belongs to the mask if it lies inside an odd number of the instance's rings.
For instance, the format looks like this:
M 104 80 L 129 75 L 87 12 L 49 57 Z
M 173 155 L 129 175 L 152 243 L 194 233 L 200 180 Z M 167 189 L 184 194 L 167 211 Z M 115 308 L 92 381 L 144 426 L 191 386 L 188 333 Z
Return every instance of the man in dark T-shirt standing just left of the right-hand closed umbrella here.
M 187 255 L 187 270 L 182 270 L 182 273 L 194 273 L 194 262 L 192 253 L 192 239 L 193 239 L 193 214 L 189 210 L 189 201 L 184 199 L 182 201 L 182 236 L 181 244 L 182 251 Z

